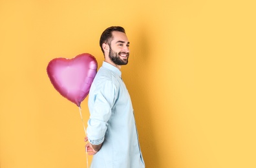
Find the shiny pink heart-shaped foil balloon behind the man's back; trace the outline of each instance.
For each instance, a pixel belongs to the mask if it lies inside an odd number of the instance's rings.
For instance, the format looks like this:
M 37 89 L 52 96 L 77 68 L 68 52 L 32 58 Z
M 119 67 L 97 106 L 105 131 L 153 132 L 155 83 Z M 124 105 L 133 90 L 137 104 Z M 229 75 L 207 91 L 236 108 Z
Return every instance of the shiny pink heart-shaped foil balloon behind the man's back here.
M 72 59 L 52 59 L 48 63 L 47 74 L 54 88 L 80 107 L 81 101 L 89 94 L 97 67 L 94 56 L 86 53 Z

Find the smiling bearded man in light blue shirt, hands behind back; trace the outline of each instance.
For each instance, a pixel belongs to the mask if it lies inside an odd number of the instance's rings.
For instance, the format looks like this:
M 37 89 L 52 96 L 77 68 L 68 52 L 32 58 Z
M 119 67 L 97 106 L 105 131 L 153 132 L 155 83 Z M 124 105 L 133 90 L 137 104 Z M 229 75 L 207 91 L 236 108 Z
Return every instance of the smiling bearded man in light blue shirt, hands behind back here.
M 129 92 L 121 78 L 127 65 L 129 41 L 120 26 L 107 28 L 100 37 L 104 55 L 89 92 L 90 118 L 85 146 L 94 155 L 92 168 L 144 168 Z

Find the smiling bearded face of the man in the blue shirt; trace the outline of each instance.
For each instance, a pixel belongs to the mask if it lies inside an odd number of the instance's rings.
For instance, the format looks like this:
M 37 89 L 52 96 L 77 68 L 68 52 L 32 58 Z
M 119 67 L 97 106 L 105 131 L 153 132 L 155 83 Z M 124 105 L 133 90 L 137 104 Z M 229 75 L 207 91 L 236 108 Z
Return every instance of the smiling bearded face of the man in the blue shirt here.
M 109 46 L 109 58 L 116 65 L 127 65 L 129 58 L 129 41 L 123 32 L 112 32 L 113 39 Z

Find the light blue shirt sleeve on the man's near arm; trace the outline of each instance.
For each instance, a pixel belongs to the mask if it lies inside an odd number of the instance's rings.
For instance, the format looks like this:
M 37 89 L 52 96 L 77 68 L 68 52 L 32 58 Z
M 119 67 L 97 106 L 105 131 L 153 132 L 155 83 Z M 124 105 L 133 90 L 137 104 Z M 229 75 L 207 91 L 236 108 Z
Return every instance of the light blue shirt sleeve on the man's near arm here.
M 107 131 L 107 121 L 111 117 L 111 109 L 116 101 L 116 87 L 112 81 L 104 81 L 98 85 L 89 104 L 91 116 L 88 121 L 87 136 L 92 145 L 103 143 Z

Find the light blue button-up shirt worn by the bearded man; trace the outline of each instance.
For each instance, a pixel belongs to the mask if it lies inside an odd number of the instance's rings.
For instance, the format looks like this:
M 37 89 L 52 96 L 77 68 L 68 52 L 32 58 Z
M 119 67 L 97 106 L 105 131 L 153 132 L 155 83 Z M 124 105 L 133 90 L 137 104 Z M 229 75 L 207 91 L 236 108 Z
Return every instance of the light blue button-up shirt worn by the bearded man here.
M 103 143 L 92 168 L 144 168 L 129 92 L 121 71 L 103 62 L 89 92 L 89 142 Z

